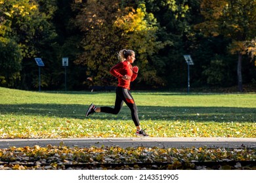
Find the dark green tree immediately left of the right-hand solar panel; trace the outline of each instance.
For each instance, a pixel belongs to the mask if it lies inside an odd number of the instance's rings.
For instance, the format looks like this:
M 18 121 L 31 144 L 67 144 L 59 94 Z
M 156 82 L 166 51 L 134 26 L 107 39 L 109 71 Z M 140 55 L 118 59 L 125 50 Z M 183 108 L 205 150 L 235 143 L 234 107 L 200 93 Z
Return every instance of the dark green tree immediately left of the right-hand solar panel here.
M 157 76 L 163 81 L 163 88 L 179 88 L 186 86 L 186 65 L 183 54 L 188 54 L 186 36 L 189 34 L 190 11 L 194 1 L 186 0 L 148 0 L 146 11 L 154 14 L 158 24 L 156 32 L 157 41 L 164 44 L 156 54 L 152 56 L 150 65 L 157 69 Z M 194 7 L 196 5 L 193 4 Z M 194 16 L 194 12 L 191 12 Z

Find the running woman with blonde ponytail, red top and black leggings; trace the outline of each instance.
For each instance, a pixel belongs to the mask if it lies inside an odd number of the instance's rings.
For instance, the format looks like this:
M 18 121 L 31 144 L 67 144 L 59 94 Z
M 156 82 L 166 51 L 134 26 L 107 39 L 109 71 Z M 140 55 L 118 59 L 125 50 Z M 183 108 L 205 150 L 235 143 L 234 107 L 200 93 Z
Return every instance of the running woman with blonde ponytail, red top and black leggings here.
M 148 137 L 148 134 L 146 134 L 145 131 L 140 127 L 137 106 L 133 96 L 129 92 L 130 83 L 137 78 L 139 71 L 139 67 L 133 67 L 131 65 L 131 63 L 135 61 L 135 52 L 133 50 L 123 49 L 119 51 L 118 58 L 120 59 L 120 62 L 110 69 L 110 73 L 118 78 L 115 107 L 96 107 L 92 103 L 86 112 L 86 117 L 95 112 L 118 114 L 123 106 L 123 102 L 125 102 L 131 110 L 131 118 L 133 119 L 133 122 L 137 128 L 135 135 Z

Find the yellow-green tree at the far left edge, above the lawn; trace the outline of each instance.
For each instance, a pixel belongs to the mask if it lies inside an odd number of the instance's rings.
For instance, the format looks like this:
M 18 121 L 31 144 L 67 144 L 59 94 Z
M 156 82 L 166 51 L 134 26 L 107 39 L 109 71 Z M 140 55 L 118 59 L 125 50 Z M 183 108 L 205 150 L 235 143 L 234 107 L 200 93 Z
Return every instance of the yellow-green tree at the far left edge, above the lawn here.
M 0 6 L 1 77 L 7 81 L 2 84 L 17 87 L 21 80 L 20 86 L 24 87 L 27 78 L 31 86 L 33 58 L 49 50 L 56 36 L 49 22 L 54 12 L 54 1 L 1 0 Z

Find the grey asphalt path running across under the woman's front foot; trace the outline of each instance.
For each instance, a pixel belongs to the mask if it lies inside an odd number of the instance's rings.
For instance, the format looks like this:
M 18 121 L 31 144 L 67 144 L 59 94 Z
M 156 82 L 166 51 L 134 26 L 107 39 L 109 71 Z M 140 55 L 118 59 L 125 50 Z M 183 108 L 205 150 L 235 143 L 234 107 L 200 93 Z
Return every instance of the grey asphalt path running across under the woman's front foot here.
M 0 139 L 0 148 L 41 146 L 90 147 L 120 146 L 158 147 L 158 148 L 256 148 L 256 138 L 224 138 L 224 137 L 148 137 L 148 138 L 82 138 L 82 139 Z

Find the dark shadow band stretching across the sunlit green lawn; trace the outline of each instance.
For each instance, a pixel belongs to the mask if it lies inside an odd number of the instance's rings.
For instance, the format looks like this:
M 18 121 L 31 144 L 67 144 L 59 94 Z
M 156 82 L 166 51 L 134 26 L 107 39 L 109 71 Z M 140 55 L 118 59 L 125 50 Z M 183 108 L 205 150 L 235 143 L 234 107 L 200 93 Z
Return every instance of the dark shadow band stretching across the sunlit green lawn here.
M 15 114 L 85 119 L 87 108 L 87 105 L 64 104 L 0 105 L 0 115 Z M 138 110 L 140 120 L 256 122 L 255 108 L 138 106 Z M 129 108 L 124 105 L 118 115 L 96 113 L 90 118 L 97 120 L 131 120 L 131 114 Z

